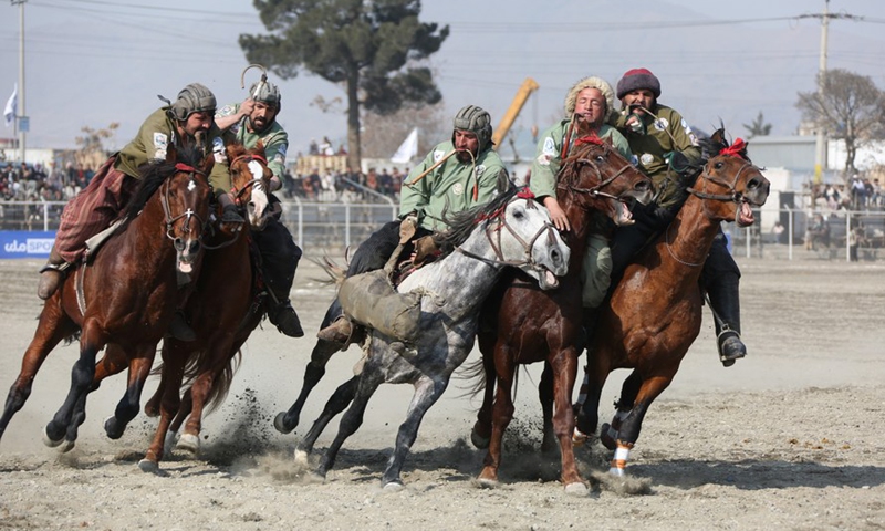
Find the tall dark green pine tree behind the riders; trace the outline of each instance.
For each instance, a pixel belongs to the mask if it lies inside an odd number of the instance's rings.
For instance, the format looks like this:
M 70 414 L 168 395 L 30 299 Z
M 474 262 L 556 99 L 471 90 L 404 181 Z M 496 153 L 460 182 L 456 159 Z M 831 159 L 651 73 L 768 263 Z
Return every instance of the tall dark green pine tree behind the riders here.
M 389 114 L 405 102 L 441 100 L 430 69 L 448 25 L 418 21 L 419 0 L 254 0 L 270 34 L 240 35 L 249 62 L 282 79 L 302 70 L 343 85 L 347 164 L 360 167 L 360 111 Z

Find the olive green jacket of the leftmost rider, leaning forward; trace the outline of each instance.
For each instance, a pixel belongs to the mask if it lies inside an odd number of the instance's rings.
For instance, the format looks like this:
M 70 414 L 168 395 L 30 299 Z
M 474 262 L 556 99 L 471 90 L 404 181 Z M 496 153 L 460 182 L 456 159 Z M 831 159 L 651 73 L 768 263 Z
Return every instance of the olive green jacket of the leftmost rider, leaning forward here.
M 135 138 L 126 144 L 117 155 L 114 168 L 123 171 L 129 177 L 140 179 L 138 167 L 152 160 L 165 160 L 166 147 L 173 144 L 181 146 L 181 138 L 178 136 L 175 119 L 167 111 L 169 107 L 162 107 L 145 119 Z M 209 174 L 209 184 L 216 195 L 230 191 L 230 176 L 228 175 L 228 160 L 225 155 L 225 142 L 221 129 L 215 124 L 209 128 L 208 138 L 215 154 L 215 165 Z

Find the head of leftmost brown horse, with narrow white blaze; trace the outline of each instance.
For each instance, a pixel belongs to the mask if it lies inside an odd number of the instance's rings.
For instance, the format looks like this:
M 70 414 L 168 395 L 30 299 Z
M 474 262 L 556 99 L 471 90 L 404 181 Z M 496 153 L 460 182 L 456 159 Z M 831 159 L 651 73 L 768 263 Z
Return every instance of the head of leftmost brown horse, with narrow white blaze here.
M 189 275 L 201 254 L 212 195 L 208 176 L 215 158 L 211 153 L 200 158 L 199 150 L 183 152 L 169 145 L 166 163 L 174 165 L 171 175 L 160 186 L 166 237 L 175 246 L 178 272 Z

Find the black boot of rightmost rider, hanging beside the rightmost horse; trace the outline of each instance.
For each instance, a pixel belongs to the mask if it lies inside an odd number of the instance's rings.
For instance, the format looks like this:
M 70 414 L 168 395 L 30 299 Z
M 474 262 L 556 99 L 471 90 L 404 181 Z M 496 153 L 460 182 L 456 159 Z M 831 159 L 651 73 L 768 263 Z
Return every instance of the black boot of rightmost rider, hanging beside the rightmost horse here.
M 715 312 L 716 346 L 719 350 L 719 360 L 726 367 L 735 365 L 735 361 L 747 355 L 747 346 L 740 339 L 738 283 L 738 277 L 730 273 L 720 273 L 707 282 L 707 293 Z

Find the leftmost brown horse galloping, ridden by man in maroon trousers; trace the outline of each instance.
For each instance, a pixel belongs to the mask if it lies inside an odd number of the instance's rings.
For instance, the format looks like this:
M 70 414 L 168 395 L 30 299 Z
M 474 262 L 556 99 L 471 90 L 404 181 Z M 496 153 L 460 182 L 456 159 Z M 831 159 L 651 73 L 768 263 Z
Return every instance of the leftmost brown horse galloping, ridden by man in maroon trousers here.
M 199 269 L 201 237 L 209 214 L 207 175 L 214 158 L 169 146 L 165 162 L 143 169 L 142 181 L 122 214 L 124 223 L 91 261 L 76 267 L 43 305 L 22 369 L 10 388 L 0 417 L 0 435 L 21 409 L 33 378 L 55 345 L 80 331 L 80 358 L 71 373 L 64 404 L 46 425 L 44 442 L 73 447 L 85 419 L 86 394 L 95 356 L 116 345 L 128 361 L 126 394 L 116 416 L 132 419 L 155 346 L 169 326 L 179 299 L 179 282 Z M 112 281 L 110 281 L 112 280 Z

